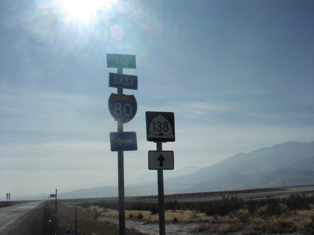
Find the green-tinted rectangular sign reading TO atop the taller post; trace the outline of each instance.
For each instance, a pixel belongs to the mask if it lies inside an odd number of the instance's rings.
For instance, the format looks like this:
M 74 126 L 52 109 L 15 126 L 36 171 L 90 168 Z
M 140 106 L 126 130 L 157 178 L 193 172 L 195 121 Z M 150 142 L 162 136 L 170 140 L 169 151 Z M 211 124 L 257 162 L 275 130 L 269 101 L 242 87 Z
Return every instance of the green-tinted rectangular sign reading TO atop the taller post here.
M 135 55 L 107 54 L 107 68 L 136 69 Z

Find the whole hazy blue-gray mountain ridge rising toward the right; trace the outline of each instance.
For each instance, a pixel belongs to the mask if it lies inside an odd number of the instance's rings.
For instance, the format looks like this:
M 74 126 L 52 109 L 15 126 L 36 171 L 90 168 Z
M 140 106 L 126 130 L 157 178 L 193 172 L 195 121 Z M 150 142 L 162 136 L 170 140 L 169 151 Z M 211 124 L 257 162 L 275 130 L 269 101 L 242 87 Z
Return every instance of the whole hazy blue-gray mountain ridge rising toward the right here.
M 250 153 L 238 153 L 191 174 L 164 180 L 165 194 L 227 191 L 250 188 L 314 184 L 314 141 L 286 142 Z M 126 196 L 151 195 L 157 182 L 125 186 Z M 116 187 L 84 189 L 86 197 L 117 196 Z M 100 193 L 101 191 L 101 193 Z M 93 192 L 93 193 L 91 193 Z M 59 198 L 82 197 L 83 190 L 60 194 Z M 97 194 L 97 193 L 96 193 Z M 75 196 L 76 195 L 76 196 Z M 80 196 L 79 196 L 80 195 Z M 90 195 L 90 196 L 88 196 Z

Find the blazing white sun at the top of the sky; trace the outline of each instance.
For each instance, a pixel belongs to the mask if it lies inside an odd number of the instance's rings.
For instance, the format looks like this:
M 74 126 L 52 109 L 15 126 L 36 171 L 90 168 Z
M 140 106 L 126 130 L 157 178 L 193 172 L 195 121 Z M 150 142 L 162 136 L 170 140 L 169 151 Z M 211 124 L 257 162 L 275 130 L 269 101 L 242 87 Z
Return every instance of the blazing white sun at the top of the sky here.
M 108 10 L 118 0 L 57 0 L 65 21 L 89 23 L 103 10 Z

